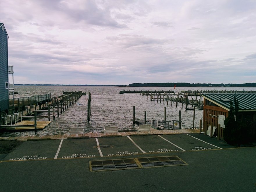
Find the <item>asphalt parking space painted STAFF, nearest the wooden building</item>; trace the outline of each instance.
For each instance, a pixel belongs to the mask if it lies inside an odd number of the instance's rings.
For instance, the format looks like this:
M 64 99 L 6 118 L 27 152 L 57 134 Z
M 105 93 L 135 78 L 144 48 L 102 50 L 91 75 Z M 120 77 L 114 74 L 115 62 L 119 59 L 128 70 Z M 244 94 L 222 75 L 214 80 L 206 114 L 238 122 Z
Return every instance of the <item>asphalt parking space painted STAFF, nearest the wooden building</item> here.
M 186 134 L 163 135 L 162 137 L 182 147 L 186 151 L 219 149 L 217 146 L 210 145 Z

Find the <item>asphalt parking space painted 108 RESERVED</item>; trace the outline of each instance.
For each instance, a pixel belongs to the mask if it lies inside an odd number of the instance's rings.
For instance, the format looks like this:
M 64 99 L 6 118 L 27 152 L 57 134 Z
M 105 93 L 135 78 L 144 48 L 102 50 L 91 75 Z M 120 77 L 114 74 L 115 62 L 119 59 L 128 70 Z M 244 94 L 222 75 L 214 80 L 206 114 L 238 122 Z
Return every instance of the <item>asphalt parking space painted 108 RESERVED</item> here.
M 100 150 L 104 157 L 118 155 L 132 155 L 143 153 L 128 137 L 101 137 L 97 138 Z

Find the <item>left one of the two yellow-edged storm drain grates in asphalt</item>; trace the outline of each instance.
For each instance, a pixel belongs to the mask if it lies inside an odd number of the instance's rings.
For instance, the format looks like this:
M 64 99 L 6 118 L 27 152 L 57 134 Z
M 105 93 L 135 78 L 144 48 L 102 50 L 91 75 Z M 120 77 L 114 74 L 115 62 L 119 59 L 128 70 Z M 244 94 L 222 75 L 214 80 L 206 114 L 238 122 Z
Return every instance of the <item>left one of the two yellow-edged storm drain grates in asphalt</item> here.
M 121 170 L 121 169 L 136 169 L 140 168 L 134 159 L 114 159 L 103 161 L 90 161 L 90 171 L 106 171 L 106 170 Z

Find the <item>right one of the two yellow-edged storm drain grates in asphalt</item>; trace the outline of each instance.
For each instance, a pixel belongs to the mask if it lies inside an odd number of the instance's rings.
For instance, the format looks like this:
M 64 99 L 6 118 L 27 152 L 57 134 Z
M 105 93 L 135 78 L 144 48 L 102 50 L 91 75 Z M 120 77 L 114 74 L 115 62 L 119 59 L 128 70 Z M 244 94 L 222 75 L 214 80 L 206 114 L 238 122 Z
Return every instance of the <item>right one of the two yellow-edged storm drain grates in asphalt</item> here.
M 188 165 L 185 161 L 183 161 L 177 156 L 148 157 L 148 158 L 138 158 L 137 160 L 143 168 Z

